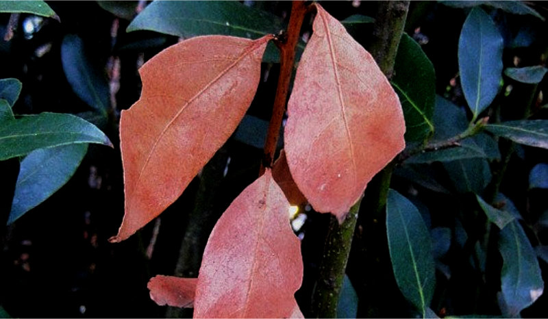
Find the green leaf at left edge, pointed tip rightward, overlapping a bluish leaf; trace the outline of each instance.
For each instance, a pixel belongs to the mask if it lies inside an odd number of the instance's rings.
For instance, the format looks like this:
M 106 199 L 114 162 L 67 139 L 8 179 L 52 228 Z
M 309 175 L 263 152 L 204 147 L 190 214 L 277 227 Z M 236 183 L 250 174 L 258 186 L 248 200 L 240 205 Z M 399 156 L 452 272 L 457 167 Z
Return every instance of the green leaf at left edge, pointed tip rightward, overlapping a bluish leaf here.
M 77 143 L 112 146 L 101 130 L 78 116 L 49 112 L 26 115 L 0 127 L 0 160 Z

